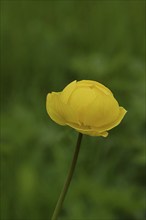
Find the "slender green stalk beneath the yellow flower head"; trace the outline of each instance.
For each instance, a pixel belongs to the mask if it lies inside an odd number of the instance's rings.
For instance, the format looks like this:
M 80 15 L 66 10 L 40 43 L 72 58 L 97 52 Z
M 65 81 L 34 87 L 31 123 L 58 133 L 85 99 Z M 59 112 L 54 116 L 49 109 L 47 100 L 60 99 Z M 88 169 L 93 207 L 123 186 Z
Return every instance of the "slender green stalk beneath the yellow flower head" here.
M 55 207 L 55 210 L 54 210 L 54 213 L 53 213 L 53 216 L 52 216 L 51 220 L 57 220 L 59 212 L 62 208 L 64 199 L 65 199 L 66 193 L 68 191 L 68 188 L 69 188 L 69 185 L 70 185 L 70 182 L 71 182 L 74 170 L 75 170 L 75 166 L 76 166 L 76 163 L 77 163 L 78 154 L 79 154 L 81 141 L 82 141 L 82 136 L 83 135 L 81 133 L 79 133 L 77 143 L 76 143 L 75 152 L 74 152 L 74 156 L 73 156 L 73 159 L 72 159 L 72 163 L 71 163 L 66 181 L 64 183 L 63 189 L 61 191 L 60 197 L 59 197 L 58 202 L 56 204 L 56 207 Z

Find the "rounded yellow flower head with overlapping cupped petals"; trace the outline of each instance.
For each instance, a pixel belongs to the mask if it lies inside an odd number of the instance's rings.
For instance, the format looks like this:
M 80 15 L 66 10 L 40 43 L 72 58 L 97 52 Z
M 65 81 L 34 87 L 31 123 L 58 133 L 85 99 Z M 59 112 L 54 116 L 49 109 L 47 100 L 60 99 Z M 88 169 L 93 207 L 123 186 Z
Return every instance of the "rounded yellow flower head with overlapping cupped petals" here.
M 73 81 L 62 92 L 49 93 L 46 108 L 56 123 L 82 134 L 103 137 L 127 112 L 107 87 L 92 80 Z

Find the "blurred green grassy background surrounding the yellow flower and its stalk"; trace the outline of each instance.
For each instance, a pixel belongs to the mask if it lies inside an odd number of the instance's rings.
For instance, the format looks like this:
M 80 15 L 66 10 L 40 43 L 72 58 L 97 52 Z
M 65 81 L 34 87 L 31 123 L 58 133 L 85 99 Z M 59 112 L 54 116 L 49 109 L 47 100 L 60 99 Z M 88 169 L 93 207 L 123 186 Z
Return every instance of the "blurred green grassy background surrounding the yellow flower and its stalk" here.
M 109 87 L 128 113 L 84 136 L 60 219 L 145 218 L 144 1 L 1 1 L 1 220 L 50 220 L 77 133 L 46 95 L 73 80 Z

